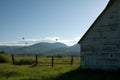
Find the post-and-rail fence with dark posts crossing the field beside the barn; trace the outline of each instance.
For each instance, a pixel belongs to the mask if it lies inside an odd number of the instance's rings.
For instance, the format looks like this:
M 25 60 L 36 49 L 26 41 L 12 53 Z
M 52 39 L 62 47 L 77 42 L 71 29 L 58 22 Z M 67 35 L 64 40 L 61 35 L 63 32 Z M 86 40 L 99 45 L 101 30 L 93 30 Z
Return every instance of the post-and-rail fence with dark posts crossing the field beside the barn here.
M 74 65 L 80 64 L 80 56 L 16 56 L 11 55 L 12 64 L 16 65 L 19 61 L 21 65 L 34 63 L 34 65 Z

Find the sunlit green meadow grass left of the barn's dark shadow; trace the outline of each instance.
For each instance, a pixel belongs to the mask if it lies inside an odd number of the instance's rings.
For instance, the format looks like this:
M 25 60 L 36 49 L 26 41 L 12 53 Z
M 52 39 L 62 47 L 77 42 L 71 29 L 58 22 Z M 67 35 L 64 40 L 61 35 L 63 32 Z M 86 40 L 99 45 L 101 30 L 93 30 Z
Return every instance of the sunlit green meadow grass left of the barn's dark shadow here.
M 79 57 L 74 58 L 73 65 L 70 57 L 56 57 L 52 67 L 51 57 L 38 57 L 38 64 L 34 65 L 35 57 L 15 56 L 15 65 L 12 60 L 0 63 L 0 80 L 57 80 L 60 75 L 77 69 L 79 62 Z

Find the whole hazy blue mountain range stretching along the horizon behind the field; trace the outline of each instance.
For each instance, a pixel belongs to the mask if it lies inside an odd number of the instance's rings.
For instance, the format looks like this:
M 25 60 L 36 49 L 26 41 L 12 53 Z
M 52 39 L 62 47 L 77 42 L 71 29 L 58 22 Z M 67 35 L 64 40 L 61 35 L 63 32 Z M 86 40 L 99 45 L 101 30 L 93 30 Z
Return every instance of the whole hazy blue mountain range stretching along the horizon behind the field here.
M 73 46 L 66 46 L 63 43 L 47 43 L 41 42 L 31 46 L 17 47 L 17 46 L 0 46 L 0 51 L 5 51 L 8 54 L 19 55 L 79 55 L 80 47 L 78 44 Z

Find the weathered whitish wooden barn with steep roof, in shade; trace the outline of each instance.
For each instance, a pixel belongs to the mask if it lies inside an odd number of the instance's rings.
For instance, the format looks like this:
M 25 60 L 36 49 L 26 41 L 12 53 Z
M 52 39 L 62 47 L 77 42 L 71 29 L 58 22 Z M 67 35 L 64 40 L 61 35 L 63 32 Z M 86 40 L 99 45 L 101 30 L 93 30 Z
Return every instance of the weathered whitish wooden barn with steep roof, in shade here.
M 120 69 L 120 0 L 110 0 L 78 42 L 81 68 Z

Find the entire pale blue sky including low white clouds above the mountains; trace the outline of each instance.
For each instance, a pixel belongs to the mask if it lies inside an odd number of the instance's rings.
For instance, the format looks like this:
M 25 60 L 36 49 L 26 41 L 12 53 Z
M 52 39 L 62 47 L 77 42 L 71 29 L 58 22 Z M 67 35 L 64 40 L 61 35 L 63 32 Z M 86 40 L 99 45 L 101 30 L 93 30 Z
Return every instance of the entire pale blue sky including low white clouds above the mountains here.
M 109 0 L 0 0 L 0 45 L 77 43 Z

